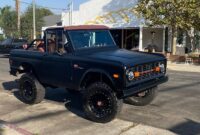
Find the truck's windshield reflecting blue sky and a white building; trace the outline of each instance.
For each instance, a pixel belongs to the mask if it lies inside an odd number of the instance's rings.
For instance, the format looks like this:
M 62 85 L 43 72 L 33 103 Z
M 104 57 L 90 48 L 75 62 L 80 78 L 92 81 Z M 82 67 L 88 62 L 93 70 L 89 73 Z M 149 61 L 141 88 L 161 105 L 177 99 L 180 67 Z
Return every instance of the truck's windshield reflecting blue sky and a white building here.
M 75 49 L 115 46 L 108 30 L 69 31 Z

